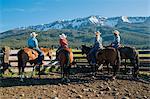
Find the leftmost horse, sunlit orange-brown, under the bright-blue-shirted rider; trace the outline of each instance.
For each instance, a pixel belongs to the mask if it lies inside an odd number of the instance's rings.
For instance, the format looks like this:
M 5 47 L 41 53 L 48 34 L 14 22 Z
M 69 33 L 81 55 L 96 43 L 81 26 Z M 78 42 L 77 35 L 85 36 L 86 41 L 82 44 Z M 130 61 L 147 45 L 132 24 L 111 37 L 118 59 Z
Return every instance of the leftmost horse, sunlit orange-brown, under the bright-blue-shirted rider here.
M 40 48 L 40 49 L 44 53 L 44 56 L 48 56 L 49 59 L 51 60 L 52 49 L 50 48 Z M 32 77 L 35 66 L 37 65 L 37 58 L 38 58 L 37 51 L 26 47 L 18 51 L 17 57 L 18 57 L 18 71 L 19 71 L 19 75 L 21 75 L 21 80 L 22 80 L 22 76 L 24 75 L 24 69 L 26 67 L 27 62 L 33 65 L 33 70 L 31 74 Z M 44 60 L 44 57 L 42 60 Z M 39 73 L 39 77 L 40 77 L 40 73 Z

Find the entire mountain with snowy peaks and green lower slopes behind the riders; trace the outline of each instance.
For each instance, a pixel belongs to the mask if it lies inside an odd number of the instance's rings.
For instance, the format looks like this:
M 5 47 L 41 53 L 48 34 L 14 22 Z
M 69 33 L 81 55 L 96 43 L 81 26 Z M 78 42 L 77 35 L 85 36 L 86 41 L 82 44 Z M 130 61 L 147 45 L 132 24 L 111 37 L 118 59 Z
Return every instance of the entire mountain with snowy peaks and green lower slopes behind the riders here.
M 113 41 L 112 31 L 120 31 L 121 43 L 140 49 L 150 49 L 150 17 L 101 17 L 89 16 L 73 20 L 55 21 L 50 24 L 35 25 L 12 29 L 1 33 L 2 46 L 22 48 L 27 46 L 26 40 L 30 33 L 35 31 L 39 45 L 43 47 L 57 47 L 61 33 L 68 37 L 71 47 L 80 47 L 81 44 L 92 45 L 95 31 L 102 33 L 103 44 L 109 45 Z

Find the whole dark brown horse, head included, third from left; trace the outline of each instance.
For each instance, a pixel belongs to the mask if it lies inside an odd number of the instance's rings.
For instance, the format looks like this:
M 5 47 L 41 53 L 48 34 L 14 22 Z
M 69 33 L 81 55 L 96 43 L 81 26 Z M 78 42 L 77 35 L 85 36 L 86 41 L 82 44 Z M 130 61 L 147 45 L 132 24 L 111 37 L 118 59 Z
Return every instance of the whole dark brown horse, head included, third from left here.
M 91 61 L 90 57 L 88 56 L 88 53 L 90 50 L 91 50 L 91 47 L 82 45 L 82 54 L 87 55 L 87 60 L 89 63 Z M 108 68 L 108 65 L 112 65 L 113 70 L 114 70 L 113 76 L 116 75 L 116 72 L 118 71 L 120 62 L 121 62 L 119 51 L 117 51 L 116 49 L 111 48 L 111 47 L 98 50 L 97 54 L 96 54 L 96 60 L 97 60 L 98 65 L 102 65 L 105 63 L 107 65 L 107 68 Z M 95 67 L 93 67 L 93 68 L 95 68 Z

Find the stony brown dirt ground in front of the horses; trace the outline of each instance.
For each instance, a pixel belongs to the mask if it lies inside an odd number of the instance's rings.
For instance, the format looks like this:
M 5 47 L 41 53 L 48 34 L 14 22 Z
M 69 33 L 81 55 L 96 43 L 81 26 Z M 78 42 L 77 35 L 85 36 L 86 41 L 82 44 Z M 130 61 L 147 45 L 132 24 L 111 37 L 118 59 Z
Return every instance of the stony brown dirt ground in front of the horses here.
M 150 82 L 131 75 L 78 73 L 63 83 L 59 74 L 42 75 L 39 79 L 1 78 L 0 99 L 150 99 Z M 55 77 L 54 77 L 55 76 Z

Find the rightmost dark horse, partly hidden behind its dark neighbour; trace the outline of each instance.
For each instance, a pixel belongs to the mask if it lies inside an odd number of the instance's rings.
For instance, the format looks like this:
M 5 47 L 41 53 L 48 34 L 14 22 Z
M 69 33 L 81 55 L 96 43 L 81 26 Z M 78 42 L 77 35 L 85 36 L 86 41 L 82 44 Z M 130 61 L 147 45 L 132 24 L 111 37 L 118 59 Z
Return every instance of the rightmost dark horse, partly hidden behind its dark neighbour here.
M 139 71 L 139 54 L 133 47 L 119 47 L 121 59 L 125 59 L 125 70 L 126 70 L 126 59 L 130 59 L 131 64 L 134 66 L 132 70 L 133 76 L 137 77 Z

